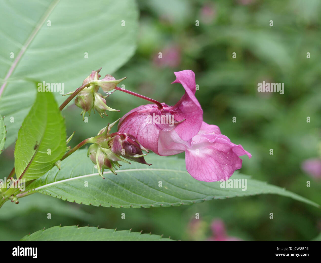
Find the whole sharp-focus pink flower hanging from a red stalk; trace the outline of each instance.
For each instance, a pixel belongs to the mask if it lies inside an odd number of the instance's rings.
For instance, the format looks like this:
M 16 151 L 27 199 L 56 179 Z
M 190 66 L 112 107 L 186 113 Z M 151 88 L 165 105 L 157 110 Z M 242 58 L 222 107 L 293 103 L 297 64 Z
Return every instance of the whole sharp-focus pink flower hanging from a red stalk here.
M 203 122 L 203 110 L 195 97 L 195 74 L 175 72 L 185 94 L 174 105 L 143 105 L 120 119 L 118 131 L 132 134 L 146 149 L 167 156 L 185 152 L 186 169 L 196 180 L 227 180 L 242 167 L 239 156 L 251 154 L 231 143 L 216 125 Z M 156 117 L 160 117 L 157 121 Z

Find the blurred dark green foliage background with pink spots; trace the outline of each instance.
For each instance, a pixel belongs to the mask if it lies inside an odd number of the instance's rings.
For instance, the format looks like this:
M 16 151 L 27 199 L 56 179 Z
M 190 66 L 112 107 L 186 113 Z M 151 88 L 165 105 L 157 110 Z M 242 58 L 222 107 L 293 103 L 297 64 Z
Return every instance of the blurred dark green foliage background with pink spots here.
M 138 5 L 136 53 L 113 76 L 127 76 L 121 83 L 126 89 L 173 105 L 184 93 L 179 84 L 170 84 L 175 80 L 173 72 L 193 70 L 204 121 L 218 125 L 222 134 L 252 153 L 250 160 L 242 157 L 240 171 L 321 204 L 321 180 L 300 168 L 304 160 L 318 156 L 321 135 L 321 2 L 150 0 L 138 1 Z M 195 26 L 196 20 L 199 26 Z M 257 92 L 257 83 L 263 81 L 285 83 L 284 94 Z M 84 124 L 75 105 L 63 111 L 67 134 L 76 131 L 69 145 L 96 135 L 108 122 L 147 104 L 122 92 L 113 93 L 106 101 L 121 112 L 108 112 L 105 118 L 92 114 Z M 234 116 L 236 123 L 232 123 Z M 11 146 L 0 160 L 4 175 L 11 171 L 13 162 Z M 310 187 L 306 186 L 308 180 Z M 320 212 L 275 195 L 125 209 L 84 206 L 34 194 L 20 199 L 19 205 L 4 204 L 0 238 L 20 239 L 59 224 L 89 224 L 143 230 L 176 240 L 206 240 L 212 234 L 211 222 L 219 218 L 228 235 L 243 240 L 311 240 L 321 231 Z M 125 219 L 121 219 L 122 213 Z M 195 213 L 200 216 L 196 226 L 191 224 Z M 273 219 L 269 219 L 270 213 Z

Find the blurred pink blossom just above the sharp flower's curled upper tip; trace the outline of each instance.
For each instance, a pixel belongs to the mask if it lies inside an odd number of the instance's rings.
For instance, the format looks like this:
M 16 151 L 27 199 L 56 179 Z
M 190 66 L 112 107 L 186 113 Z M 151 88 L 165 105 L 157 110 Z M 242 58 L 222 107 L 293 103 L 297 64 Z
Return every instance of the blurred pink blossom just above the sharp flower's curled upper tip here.
M 181 51 L 178 46 L 170 46 L 160 51 L 162 53 L 162 57 L 159 58 L 159 54 L 157 53 L 153 58 L 153 63 L 158 67 L 178 67 L 181 62 Z

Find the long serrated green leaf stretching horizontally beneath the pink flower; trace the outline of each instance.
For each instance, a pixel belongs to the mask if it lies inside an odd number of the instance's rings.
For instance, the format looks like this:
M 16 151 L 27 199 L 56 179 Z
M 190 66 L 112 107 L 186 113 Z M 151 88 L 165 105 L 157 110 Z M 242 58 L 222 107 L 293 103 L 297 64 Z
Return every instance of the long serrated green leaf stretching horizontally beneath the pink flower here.
M 152 166 L 136 162 L 131 165 L 122 163 L 117 175 L 107 171 L 104 173 L 106 179 L 103 180 L 93 168 L 94 164 L 87 157 L 86 150 L 78 150 L 62 162 L 60 171 L 54 167 L 30 183 L 26 192 L 17 197 L 40 192 L 85 205 L 139 208 L 191 205 L 205 200 L 278 194 L 318 206 L 284 188 L 251 179 L 250 176 L 235 173 L 231 177 L 246 179 L 245 191 L 241 188 L 221 188 L 220 182 L 208 183 L 191 177 L 186 171 L 184 159 L 153 153 L 148 154 L 145 159 Z

